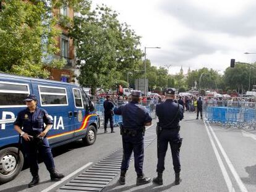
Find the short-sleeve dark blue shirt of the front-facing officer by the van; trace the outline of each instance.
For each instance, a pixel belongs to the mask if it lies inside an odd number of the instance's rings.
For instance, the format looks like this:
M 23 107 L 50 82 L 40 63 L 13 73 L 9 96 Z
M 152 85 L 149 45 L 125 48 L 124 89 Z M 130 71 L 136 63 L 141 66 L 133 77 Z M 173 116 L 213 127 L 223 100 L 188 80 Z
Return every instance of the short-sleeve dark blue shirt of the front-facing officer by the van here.
M 14 125 L 18 125 L 20 128 L 23 127 L 24 132 L 35 135 L 45 129 L 43 123 L 52 125 L 53 121 L 49 118 L 45 109 L 36 107 L 35 112 L 30 112 L 28 108 L 20 111 Z

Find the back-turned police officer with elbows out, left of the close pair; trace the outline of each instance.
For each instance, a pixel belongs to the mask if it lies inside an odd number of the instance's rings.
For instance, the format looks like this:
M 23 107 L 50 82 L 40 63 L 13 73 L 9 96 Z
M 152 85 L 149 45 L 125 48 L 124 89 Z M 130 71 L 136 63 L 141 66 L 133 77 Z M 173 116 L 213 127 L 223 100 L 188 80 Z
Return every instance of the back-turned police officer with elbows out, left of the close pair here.
M 144 158 L 144 141 L 145 125 L 151 125 L 151 117 L 147 109 L 139 105 L 141 95 L 139 91 L 132 93 L 132 101 L 114 109 L 114 114 L 122 115 L 122 144 L 123 158 L 121 165 L 121 176 L 119 183 L 126 183 L 126 171 L 129 167 L 130 156 L 134 151 L 134 165 L 137 172 L 136 185 L 150 183 L 151 178 L 147 178 L 143 174 L 143 158 Z

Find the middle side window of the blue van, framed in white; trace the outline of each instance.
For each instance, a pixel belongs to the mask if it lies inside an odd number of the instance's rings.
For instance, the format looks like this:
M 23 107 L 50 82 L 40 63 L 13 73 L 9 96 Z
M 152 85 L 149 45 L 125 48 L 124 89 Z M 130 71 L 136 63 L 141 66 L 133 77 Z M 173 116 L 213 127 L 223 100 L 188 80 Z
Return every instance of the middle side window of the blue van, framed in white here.
M 40 86 L 38 90 L 41 98 L 41 106 L 67 106 L 66 88 L 56 88 L 51 86 Z

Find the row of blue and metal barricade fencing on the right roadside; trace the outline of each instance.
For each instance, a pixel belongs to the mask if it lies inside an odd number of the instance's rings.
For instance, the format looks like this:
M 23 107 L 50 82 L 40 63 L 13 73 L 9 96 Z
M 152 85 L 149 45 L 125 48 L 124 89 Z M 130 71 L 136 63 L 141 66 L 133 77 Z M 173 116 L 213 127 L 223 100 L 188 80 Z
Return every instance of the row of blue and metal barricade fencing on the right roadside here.
M 217 101 L 214 103 L 204 101 L 203 109 L 208 122 L 255 129 L 255 102 Z

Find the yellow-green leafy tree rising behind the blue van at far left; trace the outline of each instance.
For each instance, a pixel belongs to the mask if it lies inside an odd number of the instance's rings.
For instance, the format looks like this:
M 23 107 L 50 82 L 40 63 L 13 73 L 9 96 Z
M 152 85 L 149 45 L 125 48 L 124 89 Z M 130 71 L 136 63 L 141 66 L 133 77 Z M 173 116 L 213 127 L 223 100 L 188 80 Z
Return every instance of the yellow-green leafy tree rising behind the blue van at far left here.
M 0 11 L 0 71 L 46 78 L 46 64 L 63 67 L 64 60 L 46 61 L 59 51 L 56 36 L 60 31 L 54 27 L 57 20 L 52 13 L 61 6 L 79 3 L 82 1 L 4 1 Z

